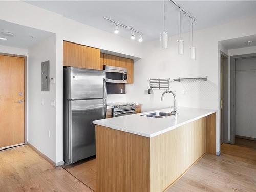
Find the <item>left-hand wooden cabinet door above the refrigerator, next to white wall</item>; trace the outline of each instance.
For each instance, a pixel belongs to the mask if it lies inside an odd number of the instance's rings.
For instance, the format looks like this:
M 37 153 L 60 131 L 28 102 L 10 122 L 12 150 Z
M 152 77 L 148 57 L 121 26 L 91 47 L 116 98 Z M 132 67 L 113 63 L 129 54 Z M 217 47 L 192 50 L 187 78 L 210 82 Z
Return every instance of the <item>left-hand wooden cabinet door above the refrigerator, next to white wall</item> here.
M 63 41 L 63 66 L 83 67 L 83 46 Z

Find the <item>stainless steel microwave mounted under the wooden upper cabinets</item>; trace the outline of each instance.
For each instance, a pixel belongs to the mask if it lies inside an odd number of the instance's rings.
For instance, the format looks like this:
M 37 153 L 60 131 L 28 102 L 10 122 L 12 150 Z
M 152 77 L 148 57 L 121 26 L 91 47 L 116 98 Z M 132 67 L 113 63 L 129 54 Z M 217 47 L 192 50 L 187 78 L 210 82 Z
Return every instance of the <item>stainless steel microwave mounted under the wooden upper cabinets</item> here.
M 106 71 L 106 82 L 127 83 L 127 69 L 104 65 Z

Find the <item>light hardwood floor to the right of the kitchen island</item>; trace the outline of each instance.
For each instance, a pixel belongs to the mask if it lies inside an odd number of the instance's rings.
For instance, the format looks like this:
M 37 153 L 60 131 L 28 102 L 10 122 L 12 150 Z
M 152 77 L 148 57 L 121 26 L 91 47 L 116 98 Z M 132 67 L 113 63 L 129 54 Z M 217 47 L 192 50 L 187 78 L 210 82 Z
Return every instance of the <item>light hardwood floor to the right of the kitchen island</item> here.
M 222 144 L 220 156 L 205 154 L 167 191 L 256 191 L 256 150 Z

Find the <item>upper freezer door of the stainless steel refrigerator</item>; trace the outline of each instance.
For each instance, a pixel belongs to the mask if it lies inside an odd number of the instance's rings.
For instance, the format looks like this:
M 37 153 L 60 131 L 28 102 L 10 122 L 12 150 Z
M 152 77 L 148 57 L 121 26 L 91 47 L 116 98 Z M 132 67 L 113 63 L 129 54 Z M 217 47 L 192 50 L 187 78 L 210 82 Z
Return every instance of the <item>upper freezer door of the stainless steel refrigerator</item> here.
M 69 99 L 106 98 L 105 71 L 69 67 Z

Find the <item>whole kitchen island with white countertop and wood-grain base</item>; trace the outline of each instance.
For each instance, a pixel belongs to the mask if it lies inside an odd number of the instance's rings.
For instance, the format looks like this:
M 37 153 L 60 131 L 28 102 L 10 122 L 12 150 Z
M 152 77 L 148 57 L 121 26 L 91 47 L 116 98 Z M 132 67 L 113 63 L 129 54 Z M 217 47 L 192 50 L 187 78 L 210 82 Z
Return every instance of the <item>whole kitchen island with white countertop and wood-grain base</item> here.
M 93 121 L 97 191 L 164 191 L 204 153 L 216 154 L 216 110 L 171 108 Z

